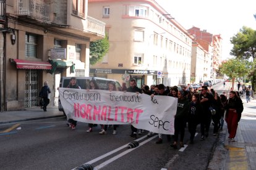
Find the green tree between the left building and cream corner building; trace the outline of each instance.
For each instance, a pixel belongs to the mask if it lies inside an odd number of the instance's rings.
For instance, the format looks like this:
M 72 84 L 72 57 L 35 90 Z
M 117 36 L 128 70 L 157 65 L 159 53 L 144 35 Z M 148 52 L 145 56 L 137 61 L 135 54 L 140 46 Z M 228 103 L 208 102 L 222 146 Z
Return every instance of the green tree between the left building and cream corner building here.
M 94 65 L 100 62 L 103 57 L 108 53 L 109 41 L 106 35 L 104 39 L 90 42 L 90 64 Z

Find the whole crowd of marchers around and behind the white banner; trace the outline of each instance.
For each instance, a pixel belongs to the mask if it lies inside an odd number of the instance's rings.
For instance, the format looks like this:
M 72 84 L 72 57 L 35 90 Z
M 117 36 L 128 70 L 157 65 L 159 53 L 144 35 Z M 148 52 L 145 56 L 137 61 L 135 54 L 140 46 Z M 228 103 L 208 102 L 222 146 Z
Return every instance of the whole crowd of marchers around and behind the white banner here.
M 69 86 L 79 88 L 79 85 L 74 84 L 72 81 L 74 80 L 70 79 Z M 177 86 L 169 87 L 164 86 L 164 84 L 151 85 L 150 87 L 143 84 L 142 89 L 140 89 L 137 87 L 135 79 L 130 80 L 129 85 L 127 88 L 126 83 L 123 83 L 121 88 L 117 89 L 114 82 L 109 82 L 106 90 L 143 93 L 151 95 L 151 97 L 154 95 L 166 95 L 177 98 L 177 110 L 176 115 L 174 115 L 174 142 L 171 147 L 177 148 L 178 144 L 179 147 L 184 147 L 184 134 L 187 125 L 190 133 L 190 144 L 194 144 L 197 126 L 200 126 L 200 140 L 205 140 L 209 136 L 211 123 L 214 126 L 213 136 L 216 136 L 218 131 L 222 131 L 224 121 L 228 124 L 229 140 L 235 141 L 237 125 L 243 110 L 239 92 L 230 91 L 229 97 L 226 97 L 226 94 L 219 95 L 214 89 L 208 89 L 207 86 L 202 86 L 200 89 L 184 86 L 182 89 L 178 89 Z M 90 87 L 87 90 L 90 91 L 90 89 L 98 89 L 95 81 L 90 82 Z M 72 129 L 75 129 L 76 121 L 69 119 L 69 124 L 71 124 Z M 95 124 L 88 125 L 87 132 L 92 132 Z M 137 139 L 138 131 L 139 134 L 143 132 L 142 129 L 137 129 L 132 125 L 130 128 L 130 137 L 133 139 Z M 107 125 L 101 125 L 100 134 L 106 134 L 107 129 Z M 116 129 L 117 125 L 114 125 L 113 134 L 117 133 Z M 148 136 L 153 136 L 153 132 L 148 132 Z M 158 134 L 156 144 L 163 143 L 162 136 L 163 134 Z M 171 139 L 171 136 L 168 136 L 169 139 Z

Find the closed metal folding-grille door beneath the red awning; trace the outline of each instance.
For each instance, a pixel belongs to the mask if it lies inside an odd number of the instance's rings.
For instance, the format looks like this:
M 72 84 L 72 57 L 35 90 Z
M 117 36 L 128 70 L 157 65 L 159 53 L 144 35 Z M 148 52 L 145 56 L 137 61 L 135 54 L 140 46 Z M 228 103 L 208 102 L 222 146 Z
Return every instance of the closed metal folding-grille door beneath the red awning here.
M 25 108 L 38 105 L 38 70 L 26 70 Z

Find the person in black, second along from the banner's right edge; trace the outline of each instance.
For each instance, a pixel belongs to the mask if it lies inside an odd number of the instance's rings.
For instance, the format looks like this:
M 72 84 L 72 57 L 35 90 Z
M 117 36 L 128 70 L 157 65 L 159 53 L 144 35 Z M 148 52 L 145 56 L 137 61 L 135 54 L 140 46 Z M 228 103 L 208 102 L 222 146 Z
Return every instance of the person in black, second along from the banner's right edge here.
M 194 144 L 195 132 L 197 125 L 200 124 L 200 113 L 202 112 L 202 106 L 200 105 L 199 94 L 192 95 L 192 101 L 189 103 L 189 132 L 190 132 L 190 144 Z

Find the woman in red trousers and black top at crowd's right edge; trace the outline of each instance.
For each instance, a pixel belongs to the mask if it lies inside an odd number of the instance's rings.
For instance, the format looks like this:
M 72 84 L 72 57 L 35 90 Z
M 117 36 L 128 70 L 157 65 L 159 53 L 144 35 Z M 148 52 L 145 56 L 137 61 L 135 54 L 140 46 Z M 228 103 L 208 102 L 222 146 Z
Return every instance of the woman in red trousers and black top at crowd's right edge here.
M 236 130 L 238 126 L 238 122 L 241 119 L 242 111 L 244 107 L 242 105 L 242 100 L 236 95 L 236 92 L 231 91 L 229 92 L 229 99 L 226 109 L 226 116 L 225 120 L 228 124 L 228 133 L 229 133 L 229 140 L 235 142 L 234 137 L 236 136 Z

